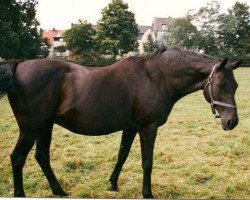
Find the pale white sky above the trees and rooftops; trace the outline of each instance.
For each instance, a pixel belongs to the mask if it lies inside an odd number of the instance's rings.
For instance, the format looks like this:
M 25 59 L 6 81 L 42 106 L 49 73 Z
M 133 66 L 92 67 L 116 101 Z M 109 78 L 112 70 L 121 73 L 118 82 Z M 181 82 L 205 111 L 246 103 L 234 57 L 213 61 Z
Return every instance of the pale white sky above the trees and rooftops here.
M 209 0 L 124 0 L 135 14 L 139 25 L 152 24 L 154 17 L 183 17 L 190 9 L 206 6 Z M 227 12 L 235 0 L 218 0 L 221 11 Z M 237 0 L 250 6 L 250 0 Z M 43 29 L 69 29 L 78 19 L 96 24 L 101 10 L 111 0 L 38 0 L 37 19 Z

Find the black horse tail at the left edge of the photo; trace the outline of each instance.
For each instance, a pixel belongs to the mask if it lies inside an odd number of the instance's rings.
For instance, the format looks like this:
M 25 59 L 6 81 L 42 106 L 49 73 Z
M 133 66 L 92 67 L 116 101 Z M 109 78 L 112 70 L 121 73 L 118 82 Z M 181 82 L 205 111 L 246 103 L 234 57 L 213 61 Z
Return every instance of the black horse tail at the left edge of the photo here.
M 13 85 L 13 76 L 18 63 L 0 63 L 0 98 L 3 97 Z

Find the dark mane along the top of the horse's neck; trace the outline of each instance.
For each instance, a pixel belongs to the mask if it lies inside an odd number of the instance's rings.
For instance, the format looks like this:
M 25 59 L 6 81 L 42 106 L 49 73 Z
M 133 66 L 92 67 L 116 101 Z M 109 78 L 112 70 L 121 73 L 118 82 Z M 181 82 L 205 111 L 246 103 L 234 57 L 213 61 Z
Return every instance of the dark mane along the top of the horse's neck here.
M 156 50 L 155 52 L 142 54 L 138 56 L 130 56 L 125 60 L 141 63 L 141 62 L 146 62 L 148 60 L 157 59 L 163 53 L 168 59 L 176 62 L 211 62 L 215 60 L 221 61 L 221 59 L 207 54 L 201 54 L 192 50 L 181 49 L 178 47 L 173 47 L 173 48 L 162 47 Z

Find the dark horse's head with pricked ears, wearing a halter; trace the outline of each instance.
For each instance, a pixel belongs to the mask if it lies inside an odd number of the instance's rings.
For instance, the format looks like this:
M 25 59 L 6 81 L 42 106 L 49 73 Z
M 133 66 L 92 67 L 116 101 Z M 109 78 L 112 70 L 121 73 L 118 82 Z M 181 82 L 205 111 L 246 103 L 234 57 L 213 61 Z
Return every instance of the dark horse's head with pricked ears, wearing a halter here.
M 227 58 L 216 64 L 209 75 L 204 87 L 205 99 L 211 104 L 212 112 L 216 110 L 221 118 L 222 128 L 232 130 L 238 124 L 238 114 L 235 102 L 235 92 L 238 84 L 234 78 L 233 70 L 240 66 L 242 60 L 228 63 Z

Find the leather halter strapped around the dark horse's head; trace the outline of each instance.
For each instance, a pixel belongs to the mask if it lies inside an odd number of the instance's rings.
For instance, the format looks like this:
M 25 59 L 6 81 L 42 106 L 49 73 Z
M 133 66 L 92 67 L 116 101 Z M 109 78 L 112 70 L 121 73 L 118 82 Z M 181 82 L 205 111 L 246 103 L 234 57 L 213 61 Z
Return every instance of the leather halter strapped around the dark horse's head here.
M 208 88 L 208 94 L 209 94 L 209 97 L 210 97 L 210 105 L 211 105 L 211 110 L 212 110 L 212 113 L 215 115 L 215 118 L 220 118 L 220 115 L 219 114 L 216 114 L 216 110 L 215 110 L 215 105 L 218 105 L 218 106 L 223 106 L 223 107 L 227 107 L 227 108 L 234 108 L 236 109 L 236 105 L 232 105 L 232 104 L 228 104 L 228 103 L 223 103 L 223 102 L 220 102 L 220 101 L 215 101 L 214 98 L 213 98 L 213 92 L 212 92 L 212 82 L 213 82 L 213 74 L 217 68 L 218 64 L 214 65 L 209 77 L 208 77 L 208 81 L 203 89 L 203 94 L 205 93 L 205 90 L 206 88 Z

